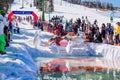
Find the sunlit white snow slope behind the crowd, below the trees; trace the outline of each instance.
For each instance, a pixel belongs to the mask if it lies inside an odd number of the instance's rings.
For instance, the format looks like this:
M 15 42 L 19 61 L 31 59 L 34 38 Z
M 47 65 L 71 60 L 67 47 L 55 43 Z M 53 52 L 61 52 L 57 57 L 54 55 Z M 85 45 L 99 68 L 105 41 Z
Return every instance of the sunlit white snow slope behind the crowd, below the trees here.
M 90 9 L 84 6 L 70 4 L 67 2 L 60 4 L 61 0 L 54 0 L 55 12 L 51 15 L 61 15 L 64 16 L 66 19 L 76 20 L 78 17 L 82 18 L 82 16 L 87 16 L 90 22 L 93 22 L 95 19 L 98 20 L 98 23 L 108 23 L 110 22 L 110 13 L 111 11 L 100 11 L 96 9 Z M 117 22 L 120 20 L 120 12 L 115 13 L 115 20 Z

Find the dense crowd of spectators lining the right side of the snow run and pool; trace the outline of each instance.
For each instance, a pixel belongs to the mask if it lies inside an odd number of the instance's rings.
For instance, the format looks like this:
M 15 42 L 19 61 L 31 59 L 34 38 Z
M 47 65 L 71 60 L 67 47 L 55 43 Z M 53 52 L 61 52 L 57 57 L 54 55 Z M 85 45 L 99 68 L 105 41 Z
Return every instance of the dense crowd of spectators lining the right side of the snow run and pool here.
M 112 22 L 106 24 L 103 22 L 102 25 L 98 25 L 99 21 L 95 19 L 91 23 L 87 16 L 82 16 L 75 21 L 73 19 L 63 21 L 63 18 L 64 16 L 53 16 L 48 23 L 38 21 L 37 27 L 57 36 L 65 36 L 68 33 L 79 36 L 79 32 L 83 32 L 84 42 L 120 44 L 120 22 L 116 23 L 117 26 L 112 25 Z

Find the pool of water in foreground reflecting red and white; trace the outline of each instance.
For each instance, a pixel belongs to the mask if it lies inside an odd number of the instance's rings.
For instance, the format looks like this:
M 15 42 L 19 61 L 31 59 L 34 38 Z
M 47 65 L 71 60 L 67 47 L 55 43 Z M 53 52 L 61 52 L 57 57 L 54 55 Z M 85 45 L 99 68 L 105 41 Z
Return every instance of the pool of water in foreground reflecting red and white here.
M 36 64 L 39 80 L 120 80 L 119 62 L 101 57 L 47 58 Z

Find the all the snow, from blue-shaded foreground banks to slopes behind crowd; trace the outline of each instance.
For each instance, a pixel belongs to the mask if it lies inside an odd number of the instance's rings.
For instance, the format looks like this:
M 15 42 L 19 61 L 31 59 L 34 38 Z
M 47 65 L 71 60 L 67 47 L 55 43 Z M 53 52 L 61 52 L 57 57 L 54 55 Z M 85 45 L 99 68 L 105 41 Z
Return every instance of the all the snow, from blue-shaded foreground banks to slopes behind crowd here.
M 30 8 L 29 5 L 33 0 L 23 0 L 24 8 L 20 9 L 22 0 L 15 0 L 12 4 L 11 10 L 30 10 L 36 14 L 41 15 L 35 7 Z M 54 15 L 64 16 L 65 19 L 73 18 L 76 20 L 78 17 L 88 16 L 88 19 L 93 22 L 97 19 L 99 24 L 107 23 L 109 21 L 110 11 L 96 11 L 96 9 L 85 8 L 80 5 L 73 5 L 61 0 L 54 0 L 55 11 L 51 13 L 51 17 Z M 116 23 L 120 19 L 119 12 L 115 14 L 113 23 Z M 46 14 L 46 20 L 48 20 L 48 14 Z M 13 41 L 10 42 L 10 46 L 6 49 L 7 54 L 0 56 L 0 80 L 37 80 L 37 71 L 42 63 L 49 62 L 55 58 L 80 58 L 91 54 L 101 54 L 104 58 L 108 59 L 120 59 L 120 47 L 111 46 L 107 44 L 94 44 L 94 43 L 81 43 L 77 47 L 73 47 L 71 54 L 52 52 L 49 47 L 44 46 L 45 42 L 53 37 L 53 34 L 48 32 L 40 32 L 41 43 L 38 47 L 35 47 L 33 41 L 37 29 L 33 29 L 32 25 L 27 22 L 21 22 L 19 24 L 21 28 L 20 34 L 13 34 Z M 77 37 L 79 38 L 79 37 Z M 81 38 L 79 38 L 81 39 Z M 99 58 L 98 58 L 99 59 Z M 109 66 L 109 63 L 106 65 Z M 117 63 L 111 65 L 119 66 Z

